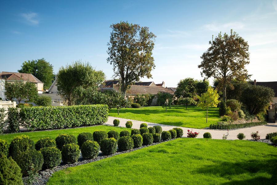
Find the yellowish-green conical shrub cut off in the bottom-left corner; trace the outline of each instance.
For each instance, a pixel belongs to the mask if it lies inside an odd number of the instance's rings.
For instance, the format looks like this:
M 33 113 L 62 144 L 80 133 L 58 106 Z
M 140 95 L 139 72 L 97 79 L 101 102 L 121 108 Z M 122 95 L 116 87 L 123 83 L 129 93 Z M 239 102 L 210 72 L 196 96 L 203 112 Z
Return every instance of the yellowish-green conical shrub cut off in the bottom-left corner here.
M 20 167 L 11 158 L 3 155 L 0 158 L 0 184 L 3 185 L 23 185 Z

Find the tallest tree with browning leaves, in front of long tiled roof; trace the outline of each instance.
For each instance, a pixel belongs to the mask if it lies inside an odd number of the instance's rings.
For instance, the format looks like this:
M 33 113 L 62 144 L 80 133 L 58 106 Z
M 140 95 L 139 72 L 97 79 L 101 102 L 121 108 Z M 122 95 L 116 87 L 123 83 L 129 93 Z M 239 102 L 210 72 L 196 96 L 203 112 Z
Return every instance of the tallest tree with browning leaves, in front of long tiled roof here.
M 152 50 L 155 35 L 148 27 L 139 24 L 120 22 L 110 26 L 107 63 L 113 65 L 114 78 L 120 77 L 121 92 L 125 97 L 126 90 L 140 78 L 152 78 L 155 68 Z

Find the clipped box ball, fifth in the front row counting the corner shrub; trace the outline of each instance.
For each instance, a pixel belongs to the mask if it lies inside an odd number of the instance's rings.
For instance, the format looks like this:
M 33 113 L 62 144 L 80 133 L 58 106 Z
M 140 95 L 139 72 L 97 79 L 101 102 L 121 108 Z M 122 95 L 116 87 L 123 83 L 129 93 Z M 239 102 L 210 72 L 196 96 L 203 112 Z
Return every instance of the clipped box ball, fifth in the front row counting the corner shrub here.
M 85 159 L 93 159 L 98 156 L 100 146 L 96 141 L 85 141 L 81 146 L 82 157 Z

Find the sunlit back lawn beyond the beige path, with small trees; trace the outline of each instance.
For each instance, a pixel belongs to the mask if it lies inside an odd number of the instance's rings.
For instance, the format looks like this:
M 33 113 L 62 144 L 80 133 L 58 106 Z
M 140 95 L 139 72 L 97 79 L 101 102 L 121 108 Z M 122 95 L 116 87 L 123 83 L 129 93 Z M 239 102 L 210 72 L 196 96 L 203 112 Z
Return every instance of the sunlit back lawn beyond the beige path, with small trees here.
M 221 121 L 217 107 L 208 109 L 208 123 L 206 123 L 206 110 L 197 106 L 187 106 L 187 109 L 185 105 L 172 105 L 171 107 L 167 109 L 167 113 L 161 106 L 139 109 L 123 108 L 119 111 L 119 115 L 116 109 L 110 109 L 109 116 L 195 129 L 209 127 Z

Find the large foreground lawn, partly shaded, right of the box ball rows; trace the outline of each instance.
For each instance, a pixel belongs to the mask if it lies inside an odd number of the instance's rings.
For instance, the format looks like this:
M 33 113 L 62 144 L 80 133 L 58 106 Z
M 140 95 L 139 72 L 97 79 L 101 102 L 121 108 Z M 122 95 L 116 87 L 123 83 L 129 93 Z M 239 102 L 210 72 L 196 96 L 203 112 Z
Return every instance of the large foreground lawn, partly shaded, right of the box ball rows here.
M 47 185 L 275 184 L 276 152 L 261 142 L 179 138 L 55 172 Z

